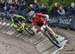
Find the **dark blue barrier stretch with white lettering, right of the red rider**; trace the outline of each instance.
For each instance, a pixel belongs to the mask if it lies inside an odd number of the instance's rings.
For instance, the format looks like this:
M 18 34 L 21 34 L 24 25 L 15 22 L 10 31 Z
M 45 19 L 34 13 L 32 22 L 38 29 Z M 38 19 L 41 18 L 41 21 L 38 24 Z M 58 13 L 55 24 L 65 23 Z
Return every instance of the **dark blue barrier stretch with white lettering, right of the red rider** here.
M 75 29 L 75 16 L 56 16 L 49 18 L 49 25 Z

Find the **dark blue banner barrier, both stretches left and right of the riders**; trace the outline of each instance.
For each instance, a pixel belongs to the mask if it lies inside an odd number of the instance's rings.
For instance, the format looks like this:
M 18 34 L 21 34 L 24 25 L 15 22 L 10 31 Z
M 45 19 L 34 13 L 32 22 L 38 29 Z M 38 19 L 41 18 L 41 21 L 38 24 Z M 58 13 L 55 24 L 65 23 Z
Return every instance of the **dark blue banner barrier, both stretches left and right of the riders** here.
M 24 11 L 16 11 L 16 13 L 6 13 L 6 12 L 0 12 L 0 17 L 2 18 L 11 18 L 14 14 L 18 15 L 25 15 L 26 13 Z M 25 16 L 24 16 L 25 17 Z M 50 16 L 49 18 L 49 25 L 52 26 L 58 26 L 58 27 L 64 27 L 64 28 L 71 28 L 75 30 L 75 16 Z

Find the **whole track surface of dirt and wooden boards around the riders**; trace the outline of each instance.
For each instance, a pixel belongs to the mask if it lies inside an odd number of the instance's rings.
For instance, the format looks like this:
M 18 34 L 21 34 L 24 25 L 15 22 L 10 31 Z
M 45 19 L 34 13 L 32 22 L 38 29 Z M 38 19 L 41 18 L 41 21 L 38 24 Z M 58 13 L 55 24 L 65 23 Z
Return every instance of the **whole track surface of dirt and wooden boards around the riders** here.
M 14 29 L 5 25 L 0 25 L 0 54 L 51 54 L 57 49 L 42 35 L 18 34 Z M 52 29 L 64 35 L 69 41 L 59 53 L 75 54 L 75 31 L 61 28 Z

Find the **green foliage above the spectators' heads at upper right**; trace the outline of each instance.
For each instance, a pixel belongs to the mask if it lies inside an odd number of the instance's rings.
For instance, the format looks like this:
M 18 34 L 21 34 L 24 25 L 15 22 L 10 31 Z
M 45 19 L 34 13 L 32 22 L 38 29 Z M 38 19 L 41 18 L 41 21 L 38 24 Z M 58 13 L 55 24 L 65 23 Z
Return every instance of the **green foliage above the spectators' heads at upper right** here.
M 49 12 L 50 10 L 52 9 L 54 3 L 58 2 L 58 4 L 60 5 L 68 5 L 70 4 L 71 2 L 75 2 L 75 0 L 38 0 L 39 4 L 45 4 L 48 9 L 49 9 Z

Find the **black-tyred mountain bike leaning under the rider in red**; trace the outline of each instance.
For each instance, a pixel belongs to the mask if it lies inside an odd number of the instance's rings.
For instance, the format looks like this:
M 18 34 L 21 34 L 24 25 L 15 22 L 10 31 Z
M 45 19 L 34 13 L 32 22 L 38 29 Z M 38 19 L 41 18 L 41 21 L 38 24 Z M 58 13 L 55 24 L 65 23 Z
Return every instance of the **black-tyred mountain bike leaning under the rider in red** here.
M 44 17 L 44 20 L 46 21 L 46 17 Z M 44 28 L 44 31 L 42 31 L 43 35 L 46 36 L 50 41 L 51 43 L 53 43 L 56 47 L 60 48 L 60 43 L 65 41 L 65 38 L 63 38 L 63 40 L 61 42 L 59 42 L 59 40 L 57 40 L 57 37 L 56 36 L 53 36 L 49 29 L 46 27 Z M 60 35 L 59 35 L 60 36 Z M 60 36 L 62 38 L 62 36 Z

